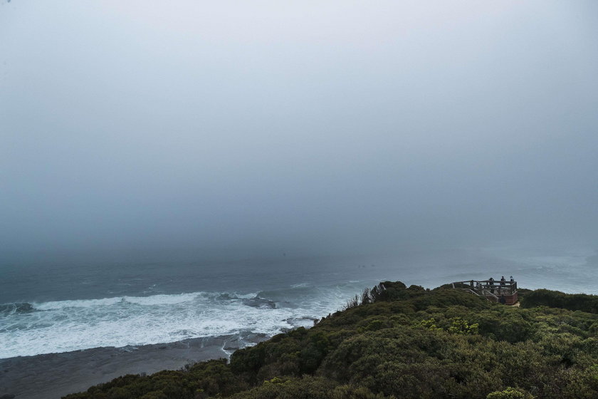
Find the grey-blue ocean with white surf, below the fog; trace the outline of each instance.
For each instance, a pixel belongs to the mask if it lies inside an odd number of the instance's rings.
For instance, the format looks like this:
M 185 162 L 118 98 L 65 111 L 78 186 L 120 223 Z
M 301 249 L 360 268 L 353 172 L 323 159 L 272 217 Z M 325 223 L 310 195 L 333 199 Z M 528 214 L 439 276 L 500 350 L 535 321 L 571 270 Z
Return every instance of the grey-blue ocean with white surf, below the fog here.
M 272 336 L 342 309 L 365 287 L 434 288 L 513 275 L 520 287 L 598 294 L 593 250 L 483 248 L 235 261 L 43 261 L 0 268 L 0 358 L 187 338 Z

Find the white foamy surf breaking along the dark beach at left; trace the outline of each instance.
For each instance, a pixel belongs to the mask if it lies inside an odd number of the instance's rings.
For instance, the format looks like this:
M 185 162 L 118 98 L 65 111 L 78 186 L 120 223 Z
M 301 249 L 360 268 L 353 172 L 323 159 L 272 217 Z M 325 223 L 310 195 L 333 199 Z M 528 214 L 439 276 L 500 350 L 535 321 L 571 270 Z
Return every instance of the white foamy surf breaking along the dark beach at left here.
M 0 358 L 172 342 L 241 331 L 273 335 L 309 326 L 309 318 L 340 309 L 355 290 L 352 286 L 301 286 L 271 291 L 269 295 L 260 293 L 261 298 L 255 293 L 194 292 L 33 304 L 33 311 L 2 319 Z M 271 307 L 273 302 L 275 308 Z

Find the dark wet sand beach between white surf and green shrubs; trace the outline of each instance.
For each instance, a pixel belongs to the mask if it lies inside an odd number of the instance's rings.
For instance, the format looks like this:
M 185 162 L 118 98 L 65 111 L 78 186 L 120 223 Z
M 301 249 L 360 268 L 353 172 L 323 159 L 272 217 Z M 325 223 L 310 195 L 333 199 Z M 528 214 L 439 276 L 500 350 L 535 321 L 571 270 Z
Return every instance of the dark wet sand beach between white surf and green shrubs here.
M 192 338 L 173 343 L 93 348 L 0 359 L 0 399 L 58 399 L 125 374 L 177 370 L 189 363 L 229 358 L 238 348 L 265 341 L 251 334 Z

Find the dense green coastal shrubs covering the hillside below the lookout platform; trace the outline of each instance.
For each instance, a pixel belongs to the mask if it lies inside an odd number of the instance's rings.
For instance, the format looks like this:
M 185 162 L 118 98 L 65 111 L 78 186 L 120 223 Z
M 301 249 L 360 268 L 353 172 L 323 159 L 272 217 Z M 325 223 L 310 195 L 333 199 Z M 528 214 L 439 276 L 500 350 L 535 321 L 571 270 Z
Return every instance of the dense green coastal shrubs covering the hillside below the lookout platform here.
M 598 398 L 598 315 L 547 307 L 560 293 L 528 292 L 521 309 L 455 289 L 384 287 L 230 364 L 125 375 L 66 398 Z

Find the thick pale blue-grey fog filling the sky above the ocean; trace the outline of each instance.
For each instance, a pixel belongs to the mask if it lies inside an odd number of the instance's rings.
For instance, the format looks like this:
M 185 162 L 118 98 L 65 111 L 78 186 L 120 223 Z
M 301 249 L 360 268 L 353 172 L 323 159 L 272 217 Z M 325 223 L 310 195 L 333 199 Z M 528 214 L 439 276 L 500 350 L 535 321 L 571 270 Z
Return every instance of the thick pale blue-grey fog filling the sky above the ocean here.
M 598 239 L 598 4 L 2 1 L 0 260 Z

